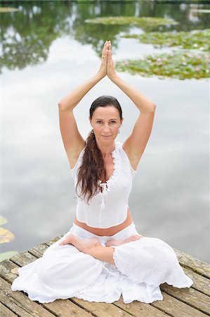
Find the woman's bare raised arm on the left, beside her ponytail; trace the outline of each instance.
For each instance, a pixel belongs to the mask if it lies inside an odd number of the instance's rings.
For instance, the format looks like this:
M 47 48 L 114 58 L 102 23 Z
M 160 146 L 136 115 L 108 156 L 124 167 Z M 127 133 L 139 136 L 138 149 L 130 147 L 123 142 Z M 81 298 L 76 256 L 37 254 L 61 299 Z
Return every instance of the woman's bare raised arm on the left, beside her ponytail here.
M 102 58 L 98 73 L 91 77 L 90 80 L 84 82 L 83 85 L 72 90 L 70 94 L 61 99 L 58 103 L 60 132 L 67 157 L 70 161 L 70 168 L 74 168 L 81 150 L 85 147 L 85 141 L 77 128 L 73 109 L 79 104 L 79 101 L 81 101 L 85 94 L 105 77 L 107 72 L 107 52 L 107 42 L 105 42 L 102 51 L 104 57 Z

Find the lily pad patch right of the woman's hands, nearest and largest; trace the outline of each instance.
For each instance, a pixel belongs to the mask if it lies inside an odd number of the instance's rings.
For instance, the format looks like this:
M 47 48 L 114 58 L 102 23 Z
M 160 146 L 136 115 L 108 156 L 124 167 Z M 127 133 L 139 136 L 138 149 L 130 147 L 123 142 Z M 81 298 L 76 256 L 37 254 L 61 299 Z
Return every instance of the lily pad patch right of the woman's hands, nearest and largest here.
M 192 51 L 172 51 L 154 56 L 145 56 L 139 59 L 127 59 L 115 63 L 119 71 L 128 71 L 131 74 L 142 76 L 159 76 L 178 78 L 181 80 L 190 78 L 210 77 L 210 54 Z

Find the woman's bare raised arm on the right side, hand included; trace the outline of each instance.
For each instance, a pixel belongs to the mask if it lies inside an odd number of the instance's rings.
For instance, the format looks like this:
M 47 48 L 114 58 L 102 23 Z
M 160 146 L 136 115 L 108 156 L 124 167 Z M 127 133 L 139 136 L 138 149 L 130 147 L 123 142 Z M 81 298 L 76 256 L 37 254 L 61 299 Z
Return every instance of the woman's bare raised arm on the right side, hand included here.
M 108 44 L 107 76 L 115 85 L 122 89 L 140 111 L 131 135 L 129 135 L 122 146 L 129 156 L 131 166 L 136 170 L 152 132 L 156 105 L 117 75 L 112 60 L 111 44 Z

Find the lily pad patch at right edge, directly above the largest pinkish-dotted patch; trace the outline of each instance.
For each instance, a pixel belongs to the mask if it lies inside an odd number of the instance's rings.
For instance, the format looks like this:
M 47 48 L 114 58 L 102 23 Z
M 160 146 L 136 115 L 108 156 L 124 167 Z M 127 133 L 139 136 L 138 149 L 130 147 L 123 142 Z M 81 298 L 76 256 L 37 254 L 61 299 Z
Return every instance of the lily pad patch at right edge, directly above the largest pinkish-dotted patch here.
M 123 35 L 136 38 L 142 43 L 162 46 L 179 46 L 182 49 L 199 49 L 210 51 L 210 29 L 193 30 L 191 32 L 146 32 L 141 35 Z

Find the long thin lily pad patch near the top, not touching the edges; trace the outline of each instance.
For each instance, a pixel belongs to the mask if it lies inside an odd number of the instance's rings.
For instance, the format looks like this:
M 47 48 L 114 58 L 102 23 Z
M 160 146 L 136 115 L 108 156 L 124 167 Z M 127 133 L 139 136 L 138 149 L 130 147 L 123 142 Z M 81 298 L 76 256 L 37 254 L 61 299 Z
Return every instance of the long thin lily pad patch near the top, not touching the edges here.
M 154 29 L 159 25 L 177 25 L 179 24 L 172 18 L 152 18 L 134 16 L 108 16 L 101 18 L 93 18 L 85 20 L 86 23 L 98 23 L 104 25 L 137 25 L 142 28 Z

